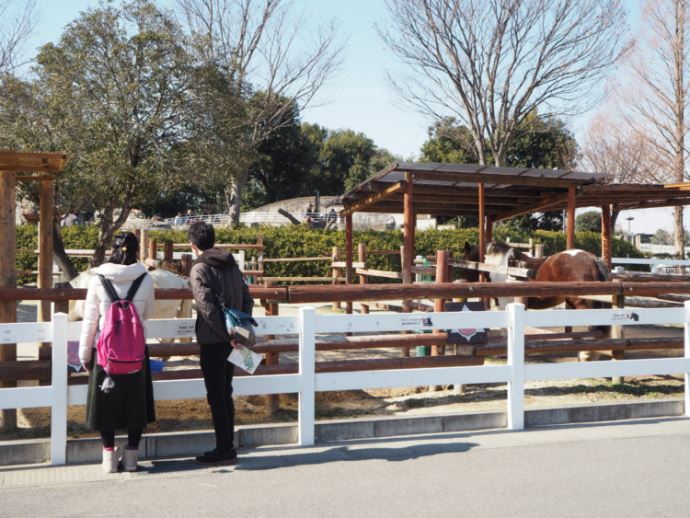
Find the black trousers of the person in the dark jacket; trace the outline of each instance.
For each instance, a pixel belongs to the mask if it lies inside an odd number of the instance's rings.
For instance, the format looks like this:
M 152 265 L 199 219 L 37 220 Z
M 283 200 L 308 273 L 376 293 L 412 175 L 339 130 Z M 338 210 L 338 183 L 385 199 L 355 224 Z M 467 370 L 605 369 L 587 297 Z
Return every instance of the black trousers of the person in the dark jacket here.
M 232 402 L 232 375 L 235 366 L 227 361 L 230 344 L 201 346 L 201 372 L 206 385 L 206 399 L 211 407 L 216 448 L 228 451 L 234 448 L 235 405 Z

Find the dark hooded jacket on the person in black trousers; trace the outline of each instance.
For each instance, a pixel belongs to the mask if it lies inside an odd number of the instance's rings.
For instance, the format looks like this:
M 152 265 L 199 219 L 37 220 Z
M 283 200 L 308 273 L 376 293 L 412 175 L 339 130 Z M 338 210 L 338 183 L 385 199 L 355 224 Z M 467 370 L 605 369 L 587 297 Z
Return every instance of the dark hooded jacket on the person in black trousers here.
M 192 264 L 189 283 L 196 301 L 196 338 L 200 345 L 230 343 L 220 301 L 251 315 L 254 300 L 232 254 L 206 250 Z

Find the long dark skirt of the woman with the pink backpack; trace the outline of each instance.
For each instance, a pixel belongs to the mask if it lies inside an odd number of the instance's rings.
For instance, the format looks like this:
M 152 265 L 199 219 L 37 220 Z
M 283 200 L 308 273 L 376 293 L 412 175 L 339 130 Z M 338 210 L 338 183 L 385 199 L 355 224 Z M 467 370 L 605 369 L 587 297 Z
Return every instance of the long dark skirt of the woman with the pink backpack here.
M 106 378 L 103 367 L 96 363 L 96 351 L 91 359 L 89 389 L 86 400 L 86 422 L 92 430 L 143 430 L 156 420 L 153 403 L 153 383 L 149 351 L 146 348 L 144 368 L 134 374 L 116 374 L 109 392 L 101 385 Z

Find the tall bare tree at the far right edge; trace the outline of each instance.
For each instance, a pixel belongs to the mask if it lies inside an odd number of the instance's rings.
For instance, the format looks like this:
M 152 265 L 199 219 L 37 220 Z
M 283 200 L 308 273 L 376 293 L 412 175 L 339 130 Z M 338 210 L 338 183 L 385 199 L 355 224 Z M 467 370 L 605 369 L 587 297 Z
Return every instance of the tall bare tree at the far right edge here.
M 690 88 L 686 65 L 690 59 L 688 0 L 649 0 L 645 25 L 631 56 L 635 89 L 627 89 L 626 120 L 644 139 L 666 181 L 686 179 L 686 137 Z M 623 93 L 625 95 L 625 93 Z M 674 209 L 676 253 L 684 252 L 683 207 Z

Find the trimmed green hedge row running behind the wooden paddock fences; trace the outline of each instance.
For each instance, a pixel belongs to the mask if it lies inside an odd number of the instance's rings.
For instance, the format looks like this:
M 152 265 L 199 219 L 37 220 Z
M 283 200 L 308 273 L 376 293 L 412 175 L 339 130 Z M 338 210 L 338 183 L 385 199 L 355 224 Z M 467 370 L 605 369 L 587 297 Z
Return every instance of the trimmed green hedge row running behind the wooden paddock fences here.
M 217 228 L 216 239 L 219 243 L 255 243 L 258 236 L 264 238 L 267 258 L 278 257 L 315 257 L 331 254 L 334 246 L 344 251 L 345 233 L 338 230 L 317 230 L 301 225 L 285 227 L 239 227 Z M 151 237 L 159 242 L 173 241 L 185 243 L 187 235 L 182 230 L 159 230 L 151 232 Z M 24 271 L 33 271 L 37 268 L 36 255 L 28 252 L 37 246 L 37 228 L 33 225 L 21 225 L 17 228 L 17 268 Z M 62 238 L 65 248 L 93 248 L 98 238 L 96 227 L 65 227 L 62 229 Z M 496 238 L 517 242 L 524 240 L 524 235 L 511 235 L 499 229 Z M 368 250 L 399 250 L 402 245 L 402 233 L 399 230 L 355 232 L 354 242 L 364 243 Z M 535 242 L 544 244 L 544 253 L 549 255 L 565 249 L 565 236 L 560 232 L 537 231 L 532 234 Z M 449 250 L 454 255 L 462 254 L 465 242 L 476 243 L 477 229 L 454 230 L 424 230 L 416 236 L 418 255 L 434 255 L 436 250 Z M 599 234 L 594 232 L 578 232 L 575 235 L 575 244 L 578 248 L 588 250 L 596 255 L 601 253 Z M 356 254 L 356 251 L 355 251 Z M 255 252 L 247 252 L 247 258 L 253 257 Z M 644 257 L 627 241 L 614 239 L 613 255 L 615 257 Z M 356 260 L 356 257 L 355 257 Z M 85 259 L 79 260 L 81 269 L 86 267 Z M 399 255 L 372 255 L 368 258 L 367 266 L 377 270 L 400 271 Z M 270 277 L 299 277 L 299 276 L 328 276 L 330 275 L 329 263 L 302 262 L 302 263 L 267 263 L 266 275 Z M 21 281 L 27 282 L 28 276 L 22 276 Z

